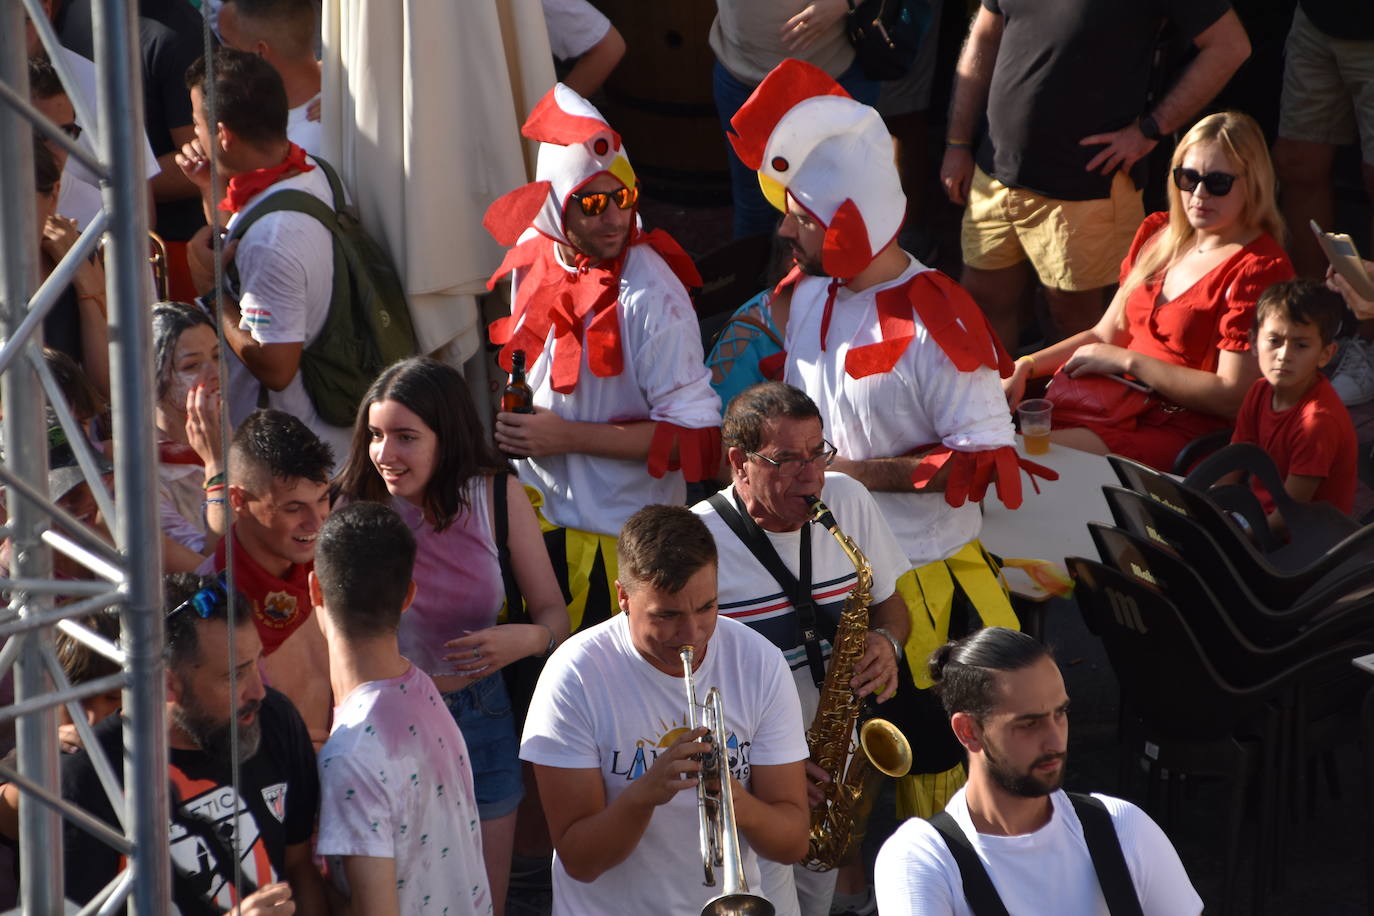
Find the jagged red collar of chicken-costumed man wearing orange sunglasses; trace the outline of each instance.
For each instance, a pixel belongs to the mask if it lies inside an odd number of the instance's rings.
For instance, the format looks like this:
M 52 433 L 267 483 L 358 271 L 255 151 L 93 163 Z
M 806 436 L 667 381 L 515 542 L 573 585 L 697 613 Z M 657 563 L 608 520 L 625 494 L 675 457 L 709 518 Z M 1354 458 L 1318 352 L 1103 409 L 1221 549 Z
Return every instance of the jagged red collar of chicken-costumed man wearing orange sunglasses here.
M 544 352 L 550 330 L 558 346 L 550 385 L 559 394 L 570 394 L 577 387 L 583 350 L 587 365 L 598 378 L 620 375 L 625 368 L 625 354 L 620 339 L 620 273 L 629 249 L 647 244 L 658 253 L 686 287 L 699 287 L 701 275 L 682 246 L 662 229 L 631 231 L 629 242 L 611 261 L 591 264 L 578 255 L 573 271 L 558 262 L 556 243 L 536 236 L 517 244 L 506 254 L 496 273 L 486 282 L 496 282 L 511 271 L 525 269 L 515 291 L 511 316 L 492 321 L 492 343 L 502 347 L 499 361 L 508 372 L 511 353 L 525 350 L 525 364 L 530 365 Z

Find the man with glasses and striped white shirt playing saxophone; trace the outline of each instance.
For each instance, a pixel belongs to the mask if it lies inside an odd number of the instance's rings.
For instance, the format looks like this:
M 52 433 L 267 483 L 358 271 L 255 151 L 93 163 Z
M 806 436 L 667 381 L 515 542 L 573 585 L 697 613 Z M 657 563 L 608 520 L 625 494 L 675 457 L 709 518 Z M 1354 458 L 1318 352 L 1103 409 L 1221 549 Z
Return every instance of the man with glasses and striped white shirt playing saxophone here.
M 720 552 L 720 612 L 765 636 L 787 659 L 807 722 L 816 714 L 835 628 L 857 582 L 855 564 L 835 538 L 809 523 L 807 497 L 824 492 L 826 505 L 871 566 L 868 632 L 849 683 L 857 695 L 879 703 L 894 695 L 908 628 L 896 591 L 897 577 L 910 566 L 905 553 L 868 492 L 842 474 L 826 472 L 835 452 L 822 433 L 820 411 L 798 389 L 780 382 L 746 389 L 725 411 L 731 486 L 692 507 Z M 776 560 L 790 581 L 779 581 L 769 570 Z M 809 596 L 811 604 L 798 608 L 801 596 Z M 807 769 L 808 801 L 819 805 L 822 783 L 833 775 L 811 761 Z M 765 897 L 776 901 L 796 894 L 802 913 L 826 916 L 837 873 L 845 869 L 812 872 L 763 862 L 763 872 Z M 856 878 L 857 887 L 841 890 L 863 894 L 861 875 Z

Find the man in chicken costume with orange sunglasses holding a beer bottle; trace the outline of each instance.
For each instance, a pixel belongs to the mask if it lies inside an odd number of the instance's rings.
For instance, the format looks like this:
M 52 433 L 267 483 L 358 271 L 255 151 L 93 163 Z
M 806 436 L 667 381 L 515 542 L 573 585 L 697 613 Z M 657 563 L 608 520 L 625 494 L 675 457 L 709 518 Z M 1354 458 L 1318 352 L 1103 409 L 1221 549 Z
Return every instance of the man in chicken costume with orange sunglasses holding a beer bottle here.
M 488 284 L 514 275 L 511 317 L 491 338 L 507 371 L 523 350 L 534 412 L 499 413 L 496 442 L 541 497 L 576 632 L 614 612 L 625 519 L 714 477 L 720 400 L 686 290 L 701 277 L 668 233 L 640 227 L 620 135 L 562 84 L 522 133 L 540 141 L 536 180 L 492 203 L 484 225 L 514 246 Z

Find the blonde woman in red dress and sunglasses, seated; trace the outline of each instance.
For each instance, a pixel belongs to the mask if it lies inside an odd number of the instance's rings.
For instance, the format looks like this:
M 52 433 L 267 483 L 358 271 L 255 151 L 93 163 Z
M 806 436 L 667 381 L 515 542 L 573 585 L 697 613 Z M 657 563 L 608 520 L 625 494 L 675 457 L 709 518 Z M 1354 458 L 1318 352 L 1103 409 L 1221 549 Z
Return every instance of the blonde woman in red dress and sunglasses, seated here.
M 1254 302 L 1293 276 L 1274 166 L 1249 115 L 1202 118 L 1171 165 L 1169 210 L 1140 224 L 1098 324 L 1021 357 L 1003 380 L 1015 407 L 1028 379 L 1058 372 L 1046 394 L 1059 408 L 1052 441 L 1161 470 L 1189 441 L 1231 426 L 1260 375 Z

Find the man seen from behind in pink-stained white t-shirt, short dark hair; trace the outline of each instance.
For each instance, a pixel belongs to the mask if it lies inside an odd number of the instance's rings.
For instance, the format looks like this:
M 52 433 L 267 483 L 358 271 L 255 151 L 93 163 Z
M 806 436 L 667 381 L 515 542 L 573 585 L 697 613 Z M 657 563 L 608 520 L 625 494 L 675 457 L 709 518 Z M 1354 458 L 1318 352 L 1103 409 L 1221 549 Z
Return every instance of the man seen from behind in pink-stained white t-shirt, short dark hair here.
M 348 912 L 492 912 L 473 769 L 434 681 L 396 643 L 415 537 L 379 503 L 320 527 L 311 600 L 337 698 L 320 751 L 320 836 Z

